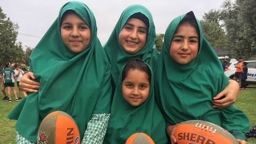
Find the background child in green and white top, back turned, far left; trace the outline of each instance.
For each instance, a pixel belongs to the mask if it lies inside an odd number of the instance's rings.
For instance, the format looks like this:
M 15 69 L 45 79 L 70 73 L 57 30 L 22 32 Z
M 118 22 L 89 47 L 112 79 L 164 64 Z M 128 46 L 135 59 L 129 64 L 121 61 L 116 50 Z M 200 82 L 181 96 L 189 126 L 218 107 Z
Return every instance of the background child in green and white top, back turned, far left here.
M 17 97 L 15 86 L 14 86 L 14 81 L 15 81 L 14 78 L 16 77 L 16 75 L 15 75 L 15 72 L 11 69 L 12 65 L 11 65 L 11 63 L 6 63 L 5 67 L 6 67 L 6 69 L 4 69 L 2 71 L 1 75 L 3 75 L 2 86 L 7 88 L 8 102 L 12 102 L 11 88 L 12 88 L 12 92 L 15 96 L 15 101 L 16 102 L 20 101 L 20 99 L 18 99 L 18 97 Z

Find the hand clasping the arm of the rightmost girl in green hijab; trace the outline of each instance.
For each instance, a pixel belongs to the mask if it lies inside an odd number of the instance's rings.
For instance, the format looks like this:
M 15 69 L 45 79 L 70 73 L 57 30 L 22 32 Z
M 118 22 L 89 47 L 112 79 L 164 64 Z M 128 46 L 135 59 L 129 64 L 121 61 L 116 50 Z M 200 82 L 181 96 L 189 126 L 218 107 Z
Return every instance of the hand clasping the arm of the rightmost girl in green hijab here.
M 228 80 L 228 81 L 229 81 L 229 84 L 226 86 L 226 88 L 213 98 L 212 107 L 221 109 L 236 102 L 236 98 L 239 92 L 239 85 L 235 80 Z M 226 96 L 226 97 L 224 99 L 217 100 L 222 96 Z

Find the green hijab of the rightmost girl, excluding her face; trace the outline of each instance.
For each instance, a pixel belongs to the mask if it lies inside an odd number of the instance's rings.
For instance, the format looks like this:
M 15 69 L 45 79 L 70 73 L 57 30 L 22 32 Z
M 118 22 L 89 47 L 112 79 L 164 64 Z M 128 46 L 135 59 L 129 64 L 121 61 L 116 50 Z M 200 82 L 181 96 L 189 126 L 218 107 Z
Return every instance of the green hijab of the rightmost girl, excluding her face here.
M 193 12 L 187 13 L 193 19 Z M 200 30 L 200 48 L 188 64 L 178 64 L 170 56 L 173 34 L 185 15 L 169 24 L 162 51 L 154 71 L 155 94 L 159 109 L 170 125 L 187 120 L 209 121 L 225 129 L 246 132 L 248 118 L 233 105 L 218 109 L 212 107 L 212 98 L 228 84 L 221 63 Z M 249 128 L 249 126 L 248 126 Z

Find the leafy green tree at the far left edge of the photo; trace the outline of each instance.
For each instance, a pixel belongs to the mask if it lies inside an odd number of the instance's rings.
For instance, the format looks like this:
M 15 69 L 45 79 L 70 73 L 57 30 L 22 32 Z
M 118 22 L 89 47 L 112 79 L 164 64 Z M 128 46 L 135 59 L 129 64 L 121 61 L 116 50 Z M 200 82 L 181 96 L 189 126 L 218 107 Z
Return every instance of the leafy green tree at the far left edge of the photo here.
M 13 23 L 0 7 L 0 67 L 4 62 L 23 62 L 24 52 L 21 42 L 15 43 L 18 34 L 18 23 Z

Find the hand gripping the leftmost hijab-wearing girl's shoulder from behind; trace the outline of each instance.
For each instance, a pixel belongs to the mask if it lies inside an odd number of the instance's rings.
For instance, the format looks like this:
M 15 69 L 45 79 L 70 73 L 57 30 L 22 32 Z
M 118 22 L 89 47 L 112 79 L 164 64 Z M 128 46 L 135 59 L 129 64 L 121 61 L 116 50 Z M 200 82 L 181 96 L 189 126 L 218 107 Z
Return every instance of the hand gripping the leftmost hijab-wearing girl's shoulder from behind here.
M 31 93 L 37 92 L 37 90 L 34 89 L 39 89 L 40 83 L 30 80 L 31 78 L 36 79 L 33 72 L 28 72 L 21 77 L 19 83 L 21 90 Z

